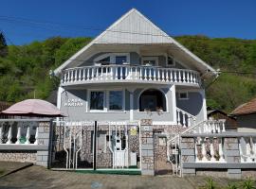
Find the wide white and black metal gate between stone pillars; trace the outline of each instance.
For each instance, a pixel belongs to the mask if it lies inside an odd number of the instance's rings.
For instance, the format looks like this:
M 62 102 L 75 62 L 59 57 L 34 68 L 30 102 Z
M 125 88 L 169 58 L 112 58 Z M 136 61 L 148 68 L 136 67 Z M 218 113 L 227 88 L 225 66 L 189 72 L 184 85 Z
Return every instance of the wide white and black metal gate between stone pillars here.
M 138 122 L 55 122 L 51 167 L 139 169 Z

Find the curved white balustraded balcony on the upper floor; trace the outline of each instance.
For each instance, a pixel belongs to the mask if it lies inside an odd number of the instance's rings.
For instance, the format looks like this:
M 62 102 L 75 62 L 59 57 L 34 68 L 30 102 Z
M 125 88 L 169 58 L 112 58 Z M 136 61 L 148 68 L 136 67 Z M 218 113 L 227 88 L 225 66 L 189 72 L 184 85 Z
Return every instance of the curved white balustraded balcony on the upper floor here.
M 196 71 L 156 66 L 100 65 L 66 69 L 61 85 L 91 83 L 155 83 L 199 87 L 201 79 Z

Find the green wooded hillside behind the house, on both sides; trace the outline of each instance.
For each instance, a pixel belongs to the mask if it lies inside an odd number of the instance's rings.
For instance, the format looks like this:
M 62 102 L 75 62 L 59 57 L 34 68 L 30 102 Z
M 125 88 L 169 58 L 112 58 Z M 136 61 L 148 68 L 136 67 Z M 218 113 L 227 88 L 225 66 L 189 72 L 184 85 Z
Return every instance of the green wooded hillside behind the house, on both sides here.
M 222 73 L 207 83 L 208 105 L 230 112 L 256 95 L 256 40 L 210 39 L 179 36 L 175 39 Z M 44 42 L 7 45 L 0 34 L 0 101 L 43 98 L 57 89 L 59 79 L 49 75 L 91 38 L 53 37 Z M 251 74 L 254 73 L 254 74 Z

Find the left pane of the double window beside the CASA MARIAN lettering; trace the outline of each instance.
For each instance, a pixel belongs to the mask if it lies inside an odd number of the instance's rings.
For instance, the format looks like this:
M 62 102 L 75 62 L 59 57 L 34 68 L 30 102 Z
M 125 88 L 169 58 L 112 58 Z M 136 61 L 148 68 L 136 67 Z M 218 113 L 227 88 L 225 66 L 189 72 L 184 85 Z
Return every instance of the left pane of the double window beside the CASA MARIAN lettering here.
M 90 110 L 103 111 L 104 109 L 104 92 L 91 92 Z

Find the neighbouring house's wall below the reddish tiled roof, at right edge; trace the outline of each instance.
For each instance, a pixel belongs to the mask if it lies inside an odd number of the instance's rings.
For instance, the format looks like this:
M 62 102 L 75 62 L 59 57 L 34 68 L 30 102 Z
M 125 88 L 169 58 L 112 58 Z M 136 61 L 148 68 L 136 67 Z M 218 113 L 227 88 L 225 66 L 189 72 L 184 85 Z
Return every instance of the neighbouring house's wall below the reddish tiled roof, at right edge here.
M 256 113 L 237 116 L 239 132 L 256 132 Z

